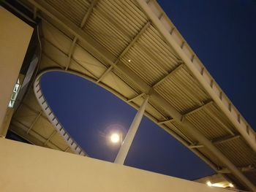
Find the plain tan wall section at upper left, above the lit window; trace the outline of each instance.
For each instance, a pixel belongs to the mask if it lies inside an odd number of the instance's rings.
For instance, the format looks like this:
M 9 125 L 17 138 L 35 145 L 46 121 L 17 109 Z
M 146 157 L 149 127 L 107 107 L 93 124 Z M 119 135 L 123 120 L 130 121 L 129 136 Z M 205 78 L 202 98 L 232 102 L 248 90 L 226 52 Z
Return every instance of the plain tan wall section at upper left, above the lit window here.
M 33 28 L 0 6 L 0 128 Z

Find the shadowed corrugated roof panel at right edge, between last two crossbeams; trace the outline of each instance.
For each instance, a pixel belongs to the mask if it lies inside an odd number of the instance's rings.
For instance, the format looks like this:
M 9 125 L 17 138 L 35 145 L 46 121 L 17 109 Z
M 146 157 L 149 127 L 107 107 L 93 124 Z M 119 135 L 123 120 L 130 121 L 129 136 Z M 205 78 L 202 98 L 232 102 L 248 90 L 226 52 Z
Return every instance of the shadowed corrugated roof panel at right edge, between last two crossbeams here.
M 227 156 L 227 158 L 232 159 L 233 164 L 238 167 L 256 165 L 256 153 L 253 153 L 253 151 L 247 147 L 242 138 L 222 142 L 217 144 L 217 147 Z

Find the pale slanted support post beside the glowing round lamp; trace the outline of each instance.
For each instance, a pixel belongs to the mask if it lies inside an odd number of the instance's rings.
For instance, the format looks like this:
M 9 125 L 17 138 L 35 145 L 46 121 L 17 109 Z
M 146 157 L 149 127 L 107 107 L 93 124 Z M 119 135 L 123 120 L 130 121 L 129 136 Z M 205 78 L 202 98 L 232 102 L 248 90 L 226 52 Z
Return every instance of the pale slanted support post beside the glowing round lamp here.
M 148 104 L 148 98 L 149 96 L 146 96 L 146 99 L 143 101 L 143 104 L 140 106 L 140 109 L 135 115 L 135 118 L 132 121 L 131 126 L 129 126 L 129 131 L 127 133 L 127 136 L 124 139 L 123 145 L 121 145 L 118 154 L 115 159 L 115 164 L 124 164 L 125 159 L 127 158 L 127 154 L 129 152 L 129 148 L 132 145 L 132 141 L 135 138 L 135 134 L 138 130 L 138 127 L 140 126 L 140 121 L 143 118 L 143 114 L 146 109 L 146 105 Z

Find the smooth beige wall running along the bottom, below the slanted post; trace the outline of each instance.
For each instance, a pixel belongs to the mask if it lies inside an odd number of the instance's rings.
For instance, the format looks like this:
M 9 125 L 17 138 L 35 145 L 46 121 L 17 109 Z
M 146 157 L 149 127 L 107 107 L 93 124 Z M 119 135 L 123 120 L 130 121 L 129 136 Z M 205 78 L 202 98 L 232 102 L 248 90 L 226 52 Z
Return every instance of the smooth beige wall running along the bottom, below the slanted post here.
M 0 138 L 0 191 L 227 190 Z

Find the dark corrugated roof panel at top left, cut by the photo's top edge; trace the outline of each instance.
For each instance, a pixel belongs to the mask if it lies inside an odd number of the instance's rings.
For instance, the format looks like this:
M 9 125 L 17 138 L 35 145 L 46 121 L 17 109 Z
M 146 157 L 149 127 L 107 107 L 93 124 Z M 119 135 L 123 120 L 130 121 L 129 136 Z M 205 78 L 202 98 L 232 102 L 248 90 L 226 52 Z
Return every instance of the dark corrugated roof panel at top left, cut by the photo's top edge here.
M 80 23 L 83 20 L 83 17 L 86 15 L 86 12 L 89 8 L 89 1 L 86 0 L 45 0 L 53 8 L 57 9 L 64 15 L 66 18 L 71 20 L 77 26 L 80 26 Z

